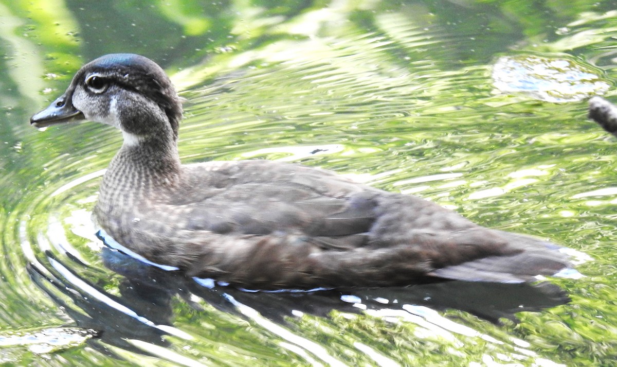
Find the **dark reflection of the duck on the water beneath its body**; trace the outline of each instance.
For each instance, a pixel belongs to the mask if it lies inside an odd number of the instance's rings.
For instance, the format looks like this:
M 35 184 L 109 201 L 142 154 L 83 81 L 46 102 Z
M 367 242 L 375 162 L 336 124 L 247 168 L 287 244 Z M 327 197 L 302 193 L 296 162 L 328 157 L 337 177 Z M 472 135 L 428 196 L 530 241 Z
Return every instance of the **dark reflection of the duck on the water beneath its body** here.
M 114 248 L 104 248 L 102 258 L 106 266 L 124 277 L 118 297 L 71 271 L 70 264 L 55 259 L 51 253 L 47 255 L 52 276 L 30 267 L 31 277 L 77 326 L 93 331 L 94 340 L 146 354 L 127 340 L 166 346 L 168 342 L 163 335 L 181 334 L 172 322 L 172 299 L 176 296 L 195 310 L 203 310 L 194 301 L 197 296 L 217 310 L 240 316 L 236 305 L 242 303 L 279 324 L 285 324 L 286 318 L 294 317 L 297 311 L 323 317 L 333 310 L 360 313 L 363 309 L 387 309 L 414 313 L 408 305 L 462 310 L 499 324 L 502 318 L 516 321 L 515 313 L 520 311 L 539 311 L 569 302 L 560 287 L 548 282 L 532 285 L 443 281 L 380 289 L 249 292 L 213 281 L 204 285 L 180 271 L 165 271 Z M 59 292 L 70 297 L 73 305 L 59 297 Z M 91 343 L 94 348 L 115 356 L 104 344 L 94 340 Z

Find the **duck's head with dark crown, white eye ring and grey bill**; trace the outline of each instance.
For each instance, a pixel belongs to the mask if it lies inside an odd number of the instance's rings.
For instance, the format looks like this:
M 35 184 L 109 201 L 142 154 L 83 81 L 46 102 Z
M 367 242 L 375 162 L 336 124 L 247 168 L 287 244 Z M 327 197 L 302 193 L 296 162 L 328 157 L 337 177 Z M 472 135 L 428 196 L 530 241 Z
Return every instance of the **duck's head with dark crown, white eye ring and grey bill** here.
M 136 54 L 109 54 L 84 65 L 64 95 L 32 116 L 30 124 L 91 120 L 138 138 L 168 127 L 177 137 L 181 117 L 180 98 L 159 65 Z

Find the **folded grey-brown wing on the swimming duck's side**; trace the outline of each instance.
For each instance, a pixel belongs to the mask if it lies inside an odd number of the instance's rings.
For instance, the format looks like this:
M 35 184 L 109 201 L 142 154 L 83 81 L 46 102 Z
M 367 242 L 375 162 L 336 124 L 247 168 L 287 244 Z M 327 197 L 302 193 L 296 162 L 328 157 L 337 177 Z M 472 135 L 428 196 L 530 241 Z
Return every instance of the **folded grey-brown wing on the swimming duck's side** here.
M 379 190 L 328 171 L 272 161 L 189 166 L 179 195 L 159 203 L 176 211 L 178 227 L 218 234 L 275 232 L 318 238 L 324 247 L 362 245 L 378 217 Z M 202 189 L 203 188 L 203 189 Z

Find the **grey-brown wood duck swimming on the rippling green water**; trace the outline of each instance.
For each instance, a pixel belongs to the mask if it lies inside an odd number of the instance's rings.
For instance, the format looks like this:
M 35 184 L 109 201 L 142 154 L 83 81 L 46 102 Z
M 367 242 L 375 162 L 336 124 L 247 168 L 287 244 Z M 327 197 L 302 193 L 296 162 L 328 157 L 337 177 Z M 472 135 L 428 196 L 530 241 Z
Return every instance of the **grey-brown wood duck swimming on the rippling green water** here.
M 571 266 L 549 242 L 487 229 L 416 196 L 284 162 L 180 162 L 181 99 L 159 65 L 109 54 L 83 66 L 35 127 L 92 120 L 123 145 L 93 217 L 188 276 L 253 289 L 385 287 L 427 278 L 525 282 Z

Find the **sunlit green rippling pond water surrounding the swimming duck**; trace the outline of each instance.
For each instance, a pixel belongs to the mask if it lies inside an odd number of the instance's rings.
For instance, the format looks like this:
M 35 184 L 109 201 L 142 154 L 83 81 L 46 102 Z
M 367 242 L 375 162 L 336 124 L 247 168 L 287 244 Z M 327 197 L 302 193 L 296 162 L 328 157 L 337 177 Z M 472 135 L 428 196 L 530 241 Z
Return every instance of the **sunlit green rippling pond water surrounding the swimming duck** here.
M 0 1 L 0 363 L 615 365 L 617 141 L 586 120 L 583 101 L 503 91 L 493 67 L 500 57 L 565 57 L 600 82 L 584 93 L 611 99 L 614 9 L 611 1 Z M 187 99 L 184 162 L 333 169 L 584 251 L 594 258 L 579 266 L 587 277 L 553 281 L 568 290 L 568 305 L 503 326 L 452 309 L 274 323 L 187 291 L 160 295 L 164 305 L 131 298 L 152 315 L 169 311 L 151 316 L 159 334 L 145 326 L 121 334 L 130 318 L 99 303 L 139 287 L 106 267 L 88 221 L 121 137 L 96 124 L 38 132 L 27 123 L 81 64 L 112 52 L 144 54 L 172 75 Z M 108 298 L 93 299 L 87 287 Z M 89 331 L 100 319 L 122 342 Z

